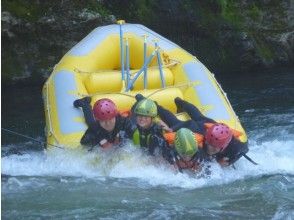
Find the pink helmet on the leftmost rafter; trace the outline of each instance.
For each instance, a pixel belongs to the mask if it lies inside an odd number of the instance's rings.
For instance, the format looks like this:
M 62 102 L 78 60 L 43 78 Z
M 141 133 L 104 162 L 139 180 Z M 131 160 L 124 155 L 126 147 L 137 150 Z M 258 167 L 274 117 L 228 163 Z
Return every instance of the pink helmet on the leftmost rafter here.
M 112 119 L 117 115 L 116 105 L 110 99 L 99 99 L 93 106 L 93 113 L 99 121 Z

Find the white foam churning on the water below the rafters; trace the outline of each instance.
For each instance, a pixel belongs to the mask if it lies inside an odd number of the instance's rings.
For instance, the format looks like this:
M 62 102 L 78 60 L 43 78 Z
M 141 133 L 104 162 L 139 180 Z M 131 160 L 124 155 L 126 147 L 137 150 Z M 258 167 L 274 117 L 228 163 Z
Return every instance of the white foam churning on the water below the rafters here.
M 194 175 L 178 173 L 165 161 L 147 156 L 131 145 L 109 151 L 99 149 L 94 153 L 53 149 L 46 154 L 13 154 L 2 158 L 2 174 L 137 178 L 151 186 L 199 188 L 261 175 L 294 175 L 293 147 L 293 140 L 250 143 L 248 156 L 259 165 L 255 166 L 245 158 L 235 163 L 236 170 L 232 167 L 221 168 L 218 164 L 212 163 L 209 177 L 195 178 Z

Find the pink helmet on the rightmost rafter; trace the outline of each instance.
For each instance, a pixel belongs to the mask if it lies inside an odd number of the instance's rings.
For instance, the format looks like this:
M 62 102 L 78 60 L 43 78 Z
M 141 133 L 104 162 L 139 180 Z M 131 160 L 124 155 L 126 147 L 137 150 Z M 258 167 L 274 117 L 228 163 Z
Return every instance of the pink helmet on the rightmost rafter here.
M 222 123 L 217 123 L 209 127 L 205 134 L 207 143 L 215 148 L 221 149 L 222 151 L 227 148 L 232 137 L 232 130 Z

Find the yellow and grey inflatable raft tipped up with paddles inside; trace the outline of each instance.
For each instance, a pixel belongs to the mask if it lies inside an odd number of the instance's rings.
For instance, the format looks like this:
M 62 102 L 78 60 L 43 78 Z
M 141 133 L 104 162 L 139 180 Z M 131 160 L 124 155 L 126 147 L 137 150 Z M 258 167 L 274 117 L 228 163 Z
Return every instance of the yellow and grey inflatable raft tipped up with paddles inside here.
M 73 101 L 92 97 L 112 99 L 119 110 L 134 104 L 138 93 L 176 114 L 180 97 L 207 117 L 246 133 L 213 74 L 193 55 L 145 26 L 118 24 L 98 27 L 75 45 L 43 87 L 47 145 L 80 146 L 87 129 Z M 181 120 L 189 117 L 176 114 Z

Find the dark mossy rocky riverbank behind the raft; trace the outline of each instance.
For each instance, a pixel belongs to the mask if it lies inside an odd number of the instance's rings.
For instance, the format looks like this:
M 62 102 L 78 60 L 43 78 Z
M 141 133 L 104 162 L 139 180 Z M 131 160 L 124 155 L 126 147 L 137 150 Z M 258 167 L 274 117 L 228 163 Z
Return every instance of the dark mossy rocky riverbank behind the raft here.
M 216 74 L 291 66 L 294 0 L 2 1 L 2 83 L 42 84 L 97 26 L 141 23 Z

